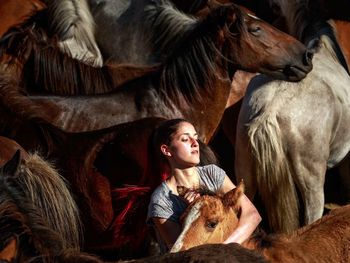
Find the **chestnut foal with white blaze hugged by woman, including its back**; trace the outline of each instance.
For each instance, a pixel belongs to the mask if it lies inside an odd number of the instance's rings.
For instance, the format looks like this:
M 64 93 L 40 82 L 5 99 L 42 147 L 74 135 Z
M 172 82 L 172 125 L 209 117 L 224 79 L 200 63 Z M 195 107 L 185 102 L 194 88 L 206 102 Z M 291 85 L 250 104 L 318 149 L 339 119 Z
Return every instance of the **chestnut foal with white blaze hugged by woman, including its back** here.
M 244 184 L 223 196 L 202 195 L 184 212 L 183 231 L 171 252 L 201 244 L 222 243 L 237 227 Z M 348 262 L 350 205 L 291 234 L 252 235 L 243 247 L 261 253 L 268 262 Z

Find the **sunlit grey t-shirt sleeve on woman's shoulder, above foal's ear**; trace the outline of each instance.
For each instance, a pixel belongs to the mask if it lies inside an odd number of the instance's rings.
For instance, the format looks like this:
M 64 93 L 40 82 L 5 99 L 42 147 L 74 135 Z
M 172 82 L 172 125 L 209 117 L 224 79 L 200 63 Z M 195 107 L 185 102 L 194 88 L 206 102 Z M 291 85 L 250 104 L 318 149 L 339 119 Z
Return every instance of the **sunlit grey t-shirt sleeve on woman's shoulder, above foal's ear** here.
M 223 185 L 226 173 L 215 164 L 201 168 L 201 178 L 209 190 L 217 192 Z

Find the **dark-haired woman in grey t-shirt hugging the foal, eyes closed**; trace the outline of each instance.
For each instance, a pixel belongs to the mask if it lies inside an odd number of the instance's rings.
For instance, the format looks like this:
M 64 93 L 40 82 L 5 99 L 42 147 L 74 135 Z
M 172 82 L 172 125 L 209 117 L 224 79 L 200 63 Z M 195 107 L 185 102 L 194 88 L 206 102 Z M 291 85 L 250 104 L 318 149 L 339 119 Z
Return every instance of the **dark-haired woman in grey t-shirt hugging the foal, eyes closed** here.
M 180 198 L 177 186 L 196 189 L 204 185 L 214 192 L 226 193 L 235 185 L 218 166 L 197 166 L 200 162 L 198 134 L 184 119 L 163 122 L 153 135 L 153 147 L 166 159 L 169 170 L 167 179 L 152 194 L 147 222 L 155 227 L 161 250 L 165 252 L 181 233 L 181 214 L 198 197 L 197 193 L 189 191 Z M 258 211 L 244 196 L 239 226 L 224 243 L 242 243 L 260 221 Z

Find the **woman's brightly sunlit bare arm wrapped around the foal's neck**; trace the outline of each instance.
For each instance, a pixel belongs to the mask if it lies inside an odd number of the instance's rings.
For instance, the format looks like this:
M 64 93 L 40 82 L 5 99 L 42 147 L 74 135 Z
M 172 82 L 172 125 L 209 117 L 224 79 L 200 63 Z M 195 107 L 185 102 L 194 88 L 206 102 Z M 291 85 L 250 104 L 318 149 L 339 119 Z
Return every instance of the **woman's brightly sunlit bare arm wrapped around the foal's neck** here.
M 226 175 L 223 185 L 221 187 L 221 191 L 223 193 L 227 193 L 232 190 L 236 186 L 232 183 L 230 178 Z M 245 195 L 242 196 L 241 199 L 241 207 L 242 213 L 239 219 L 238 227 L 236 230 L 229 236 L 228 239 L 224 241 L 224 244 L 227 243 L 239 243 L 242 244 L 245 240 L 247 240 L 250 235 L 254 232 L 256 227 L 259 225 L 261 221 L 261 216 L 258 210 L 255 208 L 253 203 L 249 200 Z

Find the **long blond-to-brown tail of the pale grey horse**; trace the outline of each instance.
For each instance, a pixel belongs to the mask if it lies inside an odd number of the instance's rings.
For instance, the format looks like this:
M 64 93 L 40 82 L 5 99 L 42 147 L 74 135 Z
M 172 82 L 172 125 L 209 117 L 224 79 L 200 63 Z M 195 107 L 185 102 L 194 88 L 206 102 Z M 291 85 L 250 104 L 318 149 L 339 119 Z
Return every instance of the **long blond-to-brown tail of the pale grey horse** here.
M 267 111 L 256 118 L 249 126 L 248 136 L 256 159 L 258 192 L 270 228 L 274 232 L 290 233 L 299 226 L 298 197 L 277 116 Z

